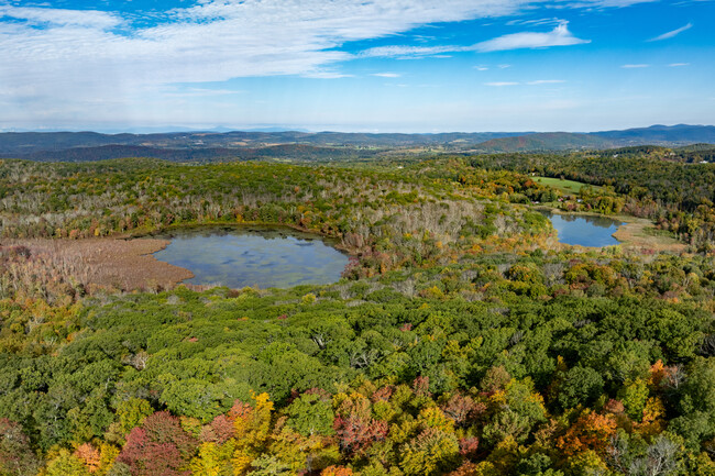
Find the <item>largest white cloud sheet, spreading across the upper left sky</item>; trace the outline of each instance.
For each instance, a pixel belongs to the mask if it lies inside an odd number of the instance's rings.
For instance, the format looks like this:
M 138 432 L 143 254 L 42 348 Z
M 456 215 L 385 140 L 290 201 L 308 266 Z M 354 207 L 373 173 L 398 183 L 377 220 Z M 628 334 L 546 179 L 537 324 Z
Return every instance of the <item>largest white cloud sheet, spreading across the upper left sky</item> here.
M 345 42 L 513 14 L 526 1 L 208 0 L 160 12 L 154 26 L 136 26 L 135 18 L 118 12 L 18 8 L 0 0 L 0 51 L 11 58 L 0 60 L 0 85 L 33 91 L 1 95 L 2 119 L 163 121 L 170 104 L 152 99 L 177 93 L 167 85 L 270 75 L 340 78 L 346 75 L 339 63 L 354 58 L 340 49 Z

